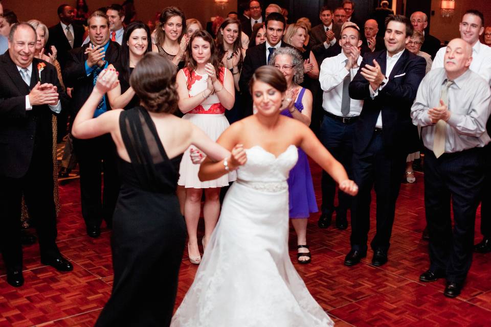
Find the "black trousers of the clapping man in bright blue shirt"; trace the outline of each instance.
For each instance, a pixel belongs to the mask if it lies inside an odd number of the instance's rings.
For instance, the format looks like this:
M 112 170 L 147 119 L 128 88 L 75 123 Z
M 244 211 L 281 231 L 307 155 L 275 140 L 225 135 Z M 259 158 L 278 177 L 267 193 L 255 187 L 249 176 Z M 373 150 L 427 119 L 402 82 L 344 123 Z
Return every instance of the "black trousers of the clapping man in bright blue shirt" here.
M 100 226 L 104 220 L 112 225 L 119 194 L 117 153 L 113 139 L 109 134 L 92 139 L 74 138 L 73 146 L 80 168 L 80 196 L 85 224 Z M 104 173 L 104 177 L 101 173 Z

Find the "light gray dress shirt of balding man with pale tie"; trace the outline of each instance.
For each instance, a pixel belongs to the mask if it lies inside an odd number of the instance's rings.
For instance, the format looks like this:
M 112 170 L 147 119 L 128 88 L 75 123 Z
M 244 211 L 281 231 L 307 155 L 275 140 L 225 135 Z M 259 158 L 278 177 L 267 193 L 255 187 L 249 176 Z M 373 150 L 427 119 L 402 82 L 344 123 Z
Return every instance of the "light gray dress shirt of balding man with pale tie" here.
M 428 109 L 440 106 L 440 94 L 447 81 L 444 68 L 432 69 L 421 81 L 411 107 L 413 124 L 421 127 L 421 138 L 433 149 L 435 124 Z M 487 82 L 470 69 L 454 80 L 448 91 L 450 119 L 447 122 L 445 153 L 484 147 L 491 141 L 486 122 L 491 112 L 491 90 Z

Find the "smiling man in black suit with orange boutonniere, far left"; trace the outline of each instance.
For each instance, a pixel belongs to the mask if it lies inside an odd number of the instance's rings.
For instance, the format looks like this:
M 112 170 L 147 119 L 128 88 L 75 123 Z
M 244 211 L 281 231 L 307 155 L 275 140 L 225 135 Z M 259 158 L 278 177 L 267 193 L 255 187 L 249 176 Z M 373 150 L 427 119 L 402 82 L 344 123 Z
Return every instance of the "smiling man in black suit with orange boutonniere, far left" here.
M 0 248 L 7 282 L 24 284 L 20 208 L 24 198 L 39 237 L 41 263 L 60 271 L 72 264 L 56 245 L 52 116 L 61 110 L 56 69 L 34 58 L 36 31 L 13 25 L 9 50 L 0 56 Z

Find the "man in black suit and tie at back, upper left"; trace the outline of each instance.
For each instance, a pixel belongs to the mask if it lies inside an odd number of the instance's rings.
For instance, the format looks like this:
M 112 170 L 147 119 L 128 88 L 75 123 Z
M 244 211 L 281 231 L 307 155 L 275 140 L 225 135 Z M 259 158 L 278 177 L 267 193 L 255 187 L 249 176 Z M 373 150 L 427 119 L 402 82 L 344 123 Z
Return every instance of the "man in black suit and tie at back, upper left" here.
M 69 5 L 61 5 L 58 7 L 58 17 L 60 22 L 49 28 L 50 37 L 46 50 L 51 49 L 54 45 L 58 51 L 57 60 L 60 63 L 61 71 L 65 67 L 65 62 L 69 58 L 68 52 L 74 48 L 82 46 L 84 29 L 81 26 L 72 24 L 75 18 L 74 9 Z

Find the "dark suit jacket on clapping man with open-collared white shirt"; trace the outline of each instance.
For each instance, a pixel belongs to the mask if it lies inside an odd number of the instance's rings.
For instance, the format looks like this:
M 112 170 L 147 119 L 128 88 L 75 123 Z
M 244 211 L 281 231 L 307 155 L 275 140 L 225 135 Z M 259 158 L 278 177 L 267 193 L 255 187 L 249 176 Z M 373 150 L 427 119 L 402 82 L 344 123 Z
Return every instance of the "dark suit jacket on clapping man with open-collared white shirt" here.
M 409 51 L 404 51 L 389 76 L 387 85 L 372 99 L 369 83 L 360 74 L 366 64 L 375 59 L 385 74 L 387 51 L 367 53 L 360 69 L 349 84 L 349 96 L 364 100 L 363 109 L 355 125 L 353 150 L 363 153 L 373 136 L 378 114 L 382 111 L 383 142 L 388 154 L 417 151 L 418 132 L 412 124 L 410 112 L 419 83 L 425 77 L 426 60 Z

